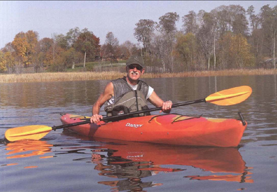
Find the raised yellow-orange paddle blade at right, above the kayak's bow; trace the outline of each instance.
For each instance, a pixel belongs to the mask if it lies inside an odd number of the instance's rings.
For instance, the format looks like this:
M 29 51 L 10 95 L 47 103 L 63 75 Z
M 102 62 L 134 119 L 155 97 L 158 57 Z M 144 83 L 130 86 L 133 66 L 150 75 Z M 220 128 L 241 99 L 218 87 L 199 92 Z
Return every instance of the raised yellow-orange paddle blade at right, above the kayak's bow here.
M 245 101 L 251 93 L 250 86 L 238 86 L 210 94 L 205 100 L 219 106 L 231 106 Z

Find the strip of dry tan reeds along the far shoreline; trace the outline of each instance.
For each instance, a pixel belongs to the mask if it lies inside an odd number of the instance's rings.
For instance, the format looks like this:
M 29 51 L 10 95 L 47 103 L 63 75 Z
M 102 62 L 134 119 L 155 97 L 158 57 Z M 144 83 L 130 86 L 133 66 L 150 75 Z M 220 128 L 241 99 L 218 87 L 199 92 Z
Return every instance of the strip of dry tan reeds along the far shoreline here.
M 276 69 L 233 69 L 221 71 L 191 71 L 180 73 L 145 73 L 143 78 L 158 77 L 199 77 L 199 76 L 234 76 L 234 75 L 269 75 L 277 74 Z M 57 72 L 57 73 L 25 73 L 0 74 L 0 82 L 50 82 L 116 79 L 126 73 L 110 72 Z

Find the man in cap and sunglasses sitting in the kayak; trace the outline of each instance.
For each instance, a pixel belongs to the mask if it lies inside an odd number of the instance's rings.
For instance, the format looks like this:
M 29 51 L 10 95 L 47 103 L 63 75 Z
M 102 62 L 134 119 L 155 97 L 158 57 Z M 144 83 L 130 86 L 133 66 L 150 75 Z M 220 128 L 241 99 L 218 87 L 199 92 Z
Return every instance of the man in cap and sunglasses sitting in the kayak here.
M 172 102 L 162 101 L 154 89 L 144 81 L 139 80 L 144 73 L 144 61 L 141 56 L 131 56 L 126 64 L 127 76 L 110 81 L 92 107 L 91 123 L 98 123 L 103 117 L 99 115 L 100 108 L 105 107 L 107 116 L 121 115 L 141 110 L 147 110 L 146 100 L 155 107 L 161 107 L 161 112 L 170 113 Z M 145 115 L 145 114 L 140 114 Z

